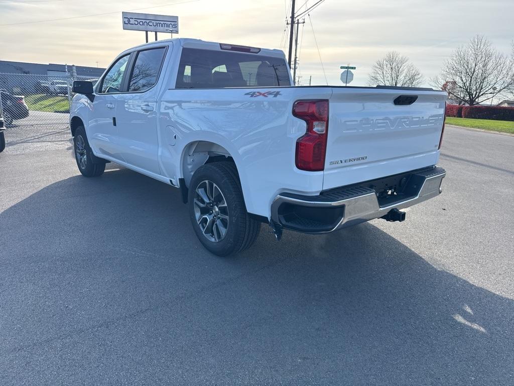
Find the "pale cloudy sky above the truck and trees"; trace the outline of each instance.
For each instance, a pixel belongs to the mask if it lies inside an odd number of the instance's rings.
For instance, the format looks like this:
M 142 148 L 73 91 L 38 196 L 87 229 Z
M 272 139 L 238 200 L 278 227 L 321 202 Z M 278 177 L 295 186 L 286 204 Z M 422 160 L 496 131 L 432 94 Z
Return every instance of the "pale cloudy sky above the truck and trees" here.
M 316 2 L 297 0 L 297 9 Z M 284 27 L 290 3 L 0 0 L 0 60 L 94 67 L 98 62 L 107 67 L 122 50 L 144 43 L 144 32 L 122 29 L 121 11 L 176 15 L 179 34 L 174 37 L 287 51 Z M 430 85 L 451 51 L 476 34 L 509 54 L 513 14 L 514 0 L 325 0 L 300 26 L 301 83 L 312 76 L 312 84 L 341 85 L 340 66 L 351 64 L 357 67 L 351 85 L 366 85 L 373 63 L 396 50 L 410 58 Z M 167 38 L 169 34 L 159 33 L 159 39 Z

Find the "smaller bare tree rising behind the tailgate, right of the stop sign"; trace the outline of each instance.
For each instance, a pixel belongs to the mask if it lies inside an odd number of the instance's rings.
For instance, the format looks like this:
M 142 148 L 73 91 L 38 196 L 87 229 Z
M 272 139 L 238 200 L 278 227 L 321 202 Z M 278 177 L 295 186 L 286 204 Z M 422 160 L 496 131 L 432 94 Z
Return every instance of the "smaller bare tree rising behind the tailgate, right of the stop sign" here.
M 417 87 L 424 77 L 409 58 L 390 51 L 373 64 L 368 80 L 370 85 Z

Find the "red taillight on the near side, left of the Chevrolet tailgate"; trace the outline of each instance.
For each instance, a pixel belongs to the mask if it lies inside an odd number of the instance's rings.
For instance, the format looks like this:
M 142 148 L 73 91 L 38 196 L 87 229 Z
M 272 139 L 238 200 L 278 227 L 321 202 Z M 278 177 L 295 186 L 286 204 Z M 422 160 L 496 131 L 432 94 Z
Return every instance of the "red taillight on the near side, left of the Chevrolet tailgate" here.
M 296 167 L 307 171 L 325 168 L 328 135 L 328 100 L 299 100 L 292 115 L 307 123 L 307 131 L 296 142 Z

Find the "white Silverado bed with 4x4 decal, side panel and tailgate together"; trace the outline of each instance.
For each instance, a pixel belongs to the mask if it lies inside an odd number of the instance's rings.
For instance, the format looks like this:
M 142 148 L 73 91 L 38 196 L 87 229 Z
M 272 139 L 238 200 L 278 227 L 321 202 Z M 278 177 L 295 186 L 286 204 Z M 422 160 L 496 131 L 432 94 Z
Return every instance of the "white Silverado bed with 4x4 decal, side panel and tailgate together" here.
M 174 121 L 169 135 L 185 141 L 210 138 L 227 149 L 243 169 L 248 210 L 266 216 L 272 197 L 280 192 L 318 195 L 435 165 L 446 95 L 432 89 L 383 86 L 169 89 L 160 106 L 161 125 Z M 400 96 L 416 100 L 396 106 L 394 100 Z M 320 172 L 295 166 L 296 142 L 305 134 L 305 122 L 292 116 L 292 106 L 310 99 L 329 101 L 325 170 Z M 173 150 L 162 154 L 164 169 L 168 157 L 181 157 Z M 169 175 L 174 178 L 176 171 L 169 170 Z

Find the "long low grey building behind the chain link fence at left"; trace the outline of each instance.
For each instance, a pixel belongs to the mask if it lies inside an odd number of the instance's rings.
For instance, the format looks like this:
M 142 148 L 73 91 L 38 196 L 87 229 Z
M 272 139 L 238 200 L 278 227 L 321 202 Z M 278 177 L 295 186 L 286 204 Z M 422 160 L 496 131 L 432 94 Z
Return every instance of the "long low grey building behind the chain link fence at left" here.
M 0 89 L 14 94 L 44 92 L 52 80 L 98 79 L 105 68 L 0 60 Z

